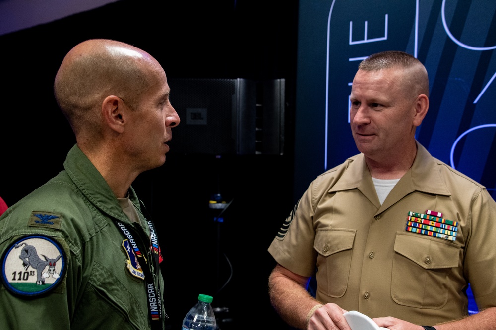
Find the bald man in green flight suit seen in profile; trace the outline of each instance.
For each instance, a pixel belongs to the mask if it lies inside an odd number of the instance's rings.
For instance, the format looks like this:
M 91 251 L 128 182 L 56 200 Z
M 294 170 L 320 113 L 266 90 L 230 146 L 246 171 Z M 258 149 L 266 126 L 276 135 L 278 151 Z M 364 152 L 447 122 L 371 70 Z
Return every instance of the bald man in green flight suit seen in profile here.
M 112 40 L 72 48 L 54 83 L 76 145 L 0 218 L 0 329 L 164 329 L 160 247 L 131 183 L 180 122 L 161 65 Z

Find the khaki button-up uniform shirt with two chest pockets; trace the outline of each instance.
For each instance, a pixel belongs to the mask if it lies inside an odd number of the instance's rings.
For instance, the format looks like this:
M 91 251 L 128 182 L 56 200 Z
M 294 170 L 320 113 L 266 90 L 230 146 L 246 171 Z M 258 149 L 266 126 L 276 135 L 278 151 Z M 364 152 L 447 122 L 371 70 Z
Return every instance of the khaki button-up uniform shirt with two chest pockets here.
M 268 251 L 316 298 L 370 317 L 436 324 L 496 306 L 496 203 L 487 190 L 417 143 L 412 168 L 380 205 L 364 155 L 321 174 Z M 406 231 L 408 212 L 459 222 L 455 241 Z M 316 272 L 316 273 L 315 273 Z

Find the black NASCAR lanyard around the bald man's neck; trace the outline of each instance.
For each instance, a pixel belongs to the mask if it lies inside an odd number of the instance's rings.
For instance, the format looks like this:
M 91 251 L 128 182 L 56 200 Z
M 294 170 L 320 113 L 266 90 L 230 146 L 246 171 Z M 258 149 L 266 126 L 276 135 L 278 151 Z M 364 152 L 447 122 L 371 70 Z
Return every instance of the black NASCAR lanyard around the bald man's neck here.
M 146 211 L 143 203 L 139 201 L 141 209 Z M 147 212 L 146 212 L 147 213 Z M 144 246 L 138 247 L 138 241 L 134 239 L 134 237 L 139 237 L 136 230 L 134 228 L 126 228 L 123 223 L 117 221 L 117 227 L 123 232 L 124 236 L 129 240 L 131 248 L 134 251 L 134 254 L 138 258 L 138 262 L 140 265 L 143 265 L 141 269 L 145 275 L 145 283 L 146 283 L 146 295 L 148 297 L 148 312 L 150 317 L 150 324 L 153 330 L 162 330 L 162 299 L 160 297 L 160 287 L 159 285 L 155 285 L 153 281 L 153 275 L 151 272 L 151 267 L 149 263 L 152 263 L 155 268 L 155 276 L 160 276 L 159 270 L 159 250 L 158 250 L 158 240 L 155 232 L 155 227 L 153 226 L 153 222 L 151 221 L 151 217 L 149 214 L 146 214 L 145 220 L 148 218 L 150 220 L 146 220 L 148 224 L 148 229 L 150 230 L 150 249 L 152 250 L 152 258 L 149 258 L 148 261 L 146 259 L 147 249 Z M 133 233 L 131 233 L 133 232 Z M 134 235 L 133 235 L 134 234 Z M 141 240 L 139 240 L 141 242 Z M 144 252 L 141 253 L 141 251 Z M 166 318 L 169 318 L 166 313 L 164 313 Z

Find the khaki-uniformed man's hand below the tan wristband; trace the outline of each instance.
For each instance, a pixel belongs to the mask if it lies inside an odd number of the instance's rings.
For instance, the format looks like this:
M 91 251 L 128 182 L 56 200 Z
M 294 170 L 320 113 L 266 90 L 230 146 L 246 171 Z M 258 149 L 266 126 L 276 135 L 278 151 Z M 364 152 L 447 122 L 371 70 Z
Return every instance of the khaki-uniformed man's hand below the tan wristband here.
M 351 330 L 343 316 L 346 312 L 336 304 L 325 304 L 313 313 L 307 330 Z

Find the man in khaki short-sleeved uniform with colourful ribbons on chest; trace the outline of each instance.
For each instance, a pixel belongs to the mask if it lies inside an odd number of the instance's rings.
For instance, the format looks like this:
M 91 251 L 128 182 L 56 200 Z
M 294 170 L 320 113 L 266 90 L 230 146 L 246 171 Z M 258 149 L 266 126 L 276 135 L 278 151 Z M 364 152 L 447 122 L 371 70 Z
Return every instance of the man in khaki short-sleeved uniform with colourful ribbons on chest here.
M 496 329 L 496 203 L 415 140 L 429 108 L 425 67 L 374 54 L 350 99 L 361 153 L 318 176 L 271 243 L 274 308 L 299 329 L 349 330 L 350 310 L 394 330 Z

